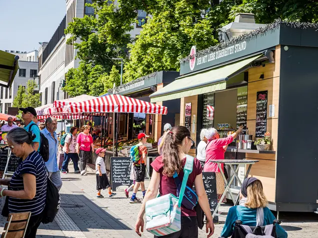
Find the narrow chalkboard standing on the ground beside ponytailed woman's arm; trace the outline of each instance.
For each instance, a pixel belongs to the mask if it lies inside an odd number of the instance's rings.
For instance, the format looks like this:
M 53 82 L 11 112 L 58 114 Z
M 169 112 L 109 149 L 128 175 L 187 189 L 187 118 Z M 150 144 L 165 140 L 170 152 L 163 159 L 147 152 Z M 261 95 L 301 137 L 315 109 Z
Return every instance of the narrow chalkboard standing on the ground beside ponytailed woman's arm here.
M 217 194 L 216 194 L 216 178 L 215 172 L 202 172 L 203 184 L 205 192 L 208 196 L 211 214 L 213 214 L 217 206 Z M 214 218 L 217 219 L 218 216 Z M 215 221 L 215 219 L 213 219 Z

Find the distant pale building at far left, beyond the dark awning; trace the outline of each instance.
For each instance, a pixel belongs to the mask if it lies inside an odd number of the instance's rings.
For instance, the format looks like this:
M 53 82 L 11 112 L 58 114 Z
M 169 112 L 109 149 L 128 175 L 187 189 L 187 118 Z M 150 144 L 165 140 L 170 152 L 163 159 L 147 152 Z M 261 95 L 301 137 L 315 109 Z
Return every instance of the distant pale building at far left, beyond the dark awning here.
M 12 54 L 19 55 L 19 70 L 13 80 L 11 88 L 0 87 L 0 112 L 8 113 L 8 108 L 12 106 L 13 99 L 17 95 L 20 85 L 26 87 L 30 79 L 34 80 L 34 75 L 38 74 L 39 57 L 38 50 L 31 52 L 5 50 Z

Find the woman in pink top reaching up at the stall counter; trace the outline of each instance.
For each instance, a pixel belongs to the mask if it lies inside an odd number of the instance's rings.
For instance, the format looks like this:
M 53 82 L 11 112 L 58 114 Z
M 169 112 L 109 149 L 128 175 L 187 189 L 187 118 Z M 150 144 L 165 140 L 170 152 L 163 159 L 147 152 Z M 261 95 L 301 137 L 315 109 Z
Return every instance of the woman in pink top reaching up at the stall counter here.
M 220 201 L 221 196 L 224 192 L 224 179 L 219 167 L 217 166 L 217 163 L 213 162 L 213 160 L 224 159 L 224 153 L 226 151 L 227 145 L 231 143 L 233 139 L 236 138 L 237 134 L 239 134 L 241 131 L 242 128 L 240 127 L 233 134 L 221 139 L 220 134 L 215 128 L 210 128 L 205 133 L 205 137 L 208 139 L 208 143 L 205 148 L 205 164 L 203 170 L 205 172 L 215 172 L 217 202 Z M 223 163 L 221 164 L 221 166 L 224 172 Z M 226 197 L 224 197 L 222 202 L 226 202 Z

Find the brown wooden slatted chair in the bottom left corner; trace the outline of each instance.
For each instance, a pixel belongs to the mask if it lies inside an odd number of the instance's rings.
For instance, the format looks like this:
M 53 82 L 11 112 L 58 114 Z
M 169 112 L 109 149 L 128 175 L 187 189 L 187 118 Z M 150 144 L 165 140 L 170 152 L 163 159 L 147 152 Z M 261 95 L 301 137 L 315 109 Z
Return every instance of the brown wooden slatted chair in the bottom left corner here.
M 10 213 L 1 238 L 24 238 L 31 217 L 31 211 Z

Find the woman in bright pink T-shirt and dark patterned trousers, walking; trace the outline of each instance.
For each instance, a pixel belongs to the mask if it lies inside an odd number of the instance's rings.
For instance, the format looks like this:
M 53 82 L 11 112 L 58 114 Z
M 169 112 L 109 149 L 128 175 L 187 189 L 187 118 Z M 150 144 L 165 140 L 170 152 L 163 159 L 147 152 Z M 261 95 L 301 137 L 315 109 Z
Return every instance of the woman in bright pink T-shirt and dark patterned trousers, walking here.
M 93 137 L 90 134 L 90 129 L 90 125 L 85 125 L 84 131 L 79 133 L 76 140 L 76 152 L 80 157 L 79 167 L 81 175 L 86 174 L 87 159 L 90 157 L 91 149 L 94 150 Z

